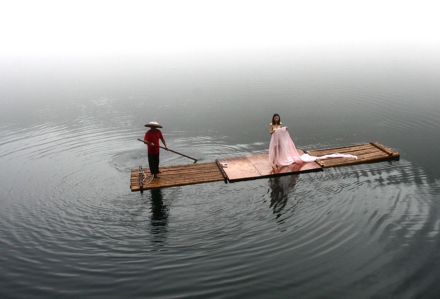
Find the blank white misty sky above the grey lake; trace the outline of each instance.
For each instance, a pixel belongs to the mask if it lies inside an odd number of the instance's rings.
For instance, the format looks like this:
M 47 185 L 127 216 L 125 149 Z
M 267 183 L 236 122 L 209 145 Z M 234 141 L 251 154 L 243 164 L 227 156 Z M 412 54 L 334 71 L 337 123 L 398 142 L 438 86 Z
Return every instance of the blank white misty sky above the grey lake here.
M 440 44 L 436 1 L 7 1 L 0 54 Z

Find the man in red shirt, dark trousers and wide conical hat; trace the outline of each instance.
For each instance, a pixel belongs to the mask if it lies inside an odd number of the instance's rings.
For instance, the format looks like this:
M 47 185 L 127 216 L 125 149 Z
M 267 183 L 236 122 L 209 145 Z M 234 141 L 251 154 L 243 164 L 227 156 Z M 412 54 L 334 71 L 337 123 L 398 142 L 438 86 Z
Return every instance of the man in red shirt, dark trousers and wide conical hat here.
M 163 128 L 160 124 L 152 121 L 147 123 L 145 126 L 150 128 L 150 130 L 145 133 L 144 137 L 144 140 L 146 140 L 148 144 L 148 164 L 150 166 L 150 172 L 153 175 L 153 178 L 158 179 L 159 176 L 157 174 L 161 173 L 159 171 L 159 139 L 162 140 L 166 150 L 168 150 L 168 146 L 163 139 L 162 132 L 157 129 Z

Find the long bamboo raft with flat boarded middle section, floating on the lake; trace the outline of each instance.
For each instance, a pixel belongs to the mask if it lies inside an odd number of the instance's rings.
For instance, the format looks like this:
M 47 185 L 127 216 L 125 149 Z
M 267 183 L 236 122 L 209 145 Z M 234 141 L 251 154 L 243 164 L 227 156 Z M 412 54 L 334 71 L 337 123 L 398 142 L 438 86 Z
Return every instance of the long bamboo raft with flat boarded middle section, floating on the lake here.
M 302 151 L 298 150 L 300 155 Z M 323 156 L 332 153 L 351 154 L 357 159 L 329 158 L 314 162 L 292 164 L 273 169 L 269 165 L 267 154 L 222 158 L 215 162 L 161 166 L 159 179 L 150 181 L 150 170 L 147 168 L 132 169 L 130 188 L 132 191 L 174 187 L 204 182 L 236 182 L 249 179 L 262 179 L 286 176 L 296 173 L 322 171 L 323 168 L 361 164 L 384 159 L 398 159 L 399 153 L 377 142 L 306 151 L 311 156 Z M 147 176 L 145 176 L 147 174 Z

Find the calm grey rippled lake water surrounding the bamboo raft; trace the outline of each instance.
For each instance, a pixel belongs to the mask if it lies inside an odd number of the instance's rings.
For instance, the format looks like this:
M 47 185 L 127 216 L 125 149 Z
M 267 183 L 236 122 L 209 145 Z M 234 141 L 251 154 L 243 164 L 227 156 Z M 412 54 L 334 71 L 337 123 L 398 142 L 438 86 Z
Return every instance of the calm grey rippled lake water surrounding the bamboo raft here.
M 0 297 L 435 298 L 438 53 L 2 57 Z M 266 152 L 273 113 L 300 149 L 400 160 L 130 191 L 146 122 L 213 161 Z

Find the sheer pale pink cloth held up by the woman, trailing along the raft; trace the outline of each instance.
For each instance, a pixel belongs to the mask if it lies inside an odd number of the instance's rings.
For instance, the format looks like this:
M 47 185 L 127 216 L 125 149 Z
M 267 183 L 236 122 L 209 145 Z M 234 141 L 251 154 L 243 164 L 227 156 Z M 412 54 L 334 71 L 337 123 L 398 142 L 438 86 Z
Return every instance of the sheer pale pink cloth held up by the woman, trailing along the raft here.
M 288 166 L 293 163 L 313 162 L 314 160 L 322 160 L 327 158 L 353 158 L 356 156 L 346 154 L 330 154 L 321 157 L 314 157 L 308 154 L 299 155 L 295 144 L 290 139 L 287 128 L 279 128 L 273 131 L 272 139 L 269 144 L 269 163 L 273 168 L 278 166 Z

